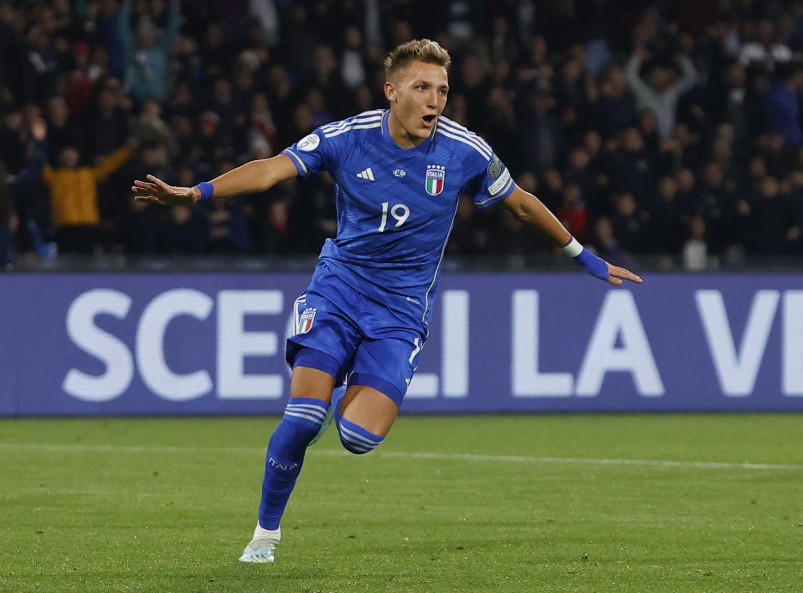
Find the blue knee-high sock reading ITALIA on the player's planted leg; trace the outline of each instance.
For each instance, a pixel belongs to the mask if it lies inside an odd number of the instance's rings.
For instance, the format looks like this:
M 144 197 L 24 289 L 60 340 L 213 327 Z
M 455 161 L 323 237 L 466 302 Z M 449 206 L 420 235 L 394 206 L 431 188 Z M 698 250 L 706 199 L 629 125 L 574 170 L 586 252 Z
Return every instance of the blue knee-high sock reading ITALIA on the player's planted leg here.
M 329 404 L 314 398 L 290 398 L 265 456 L 259 526 L 279 529 L 287 499 L 304 463 L 304 452 L 324 421 Z

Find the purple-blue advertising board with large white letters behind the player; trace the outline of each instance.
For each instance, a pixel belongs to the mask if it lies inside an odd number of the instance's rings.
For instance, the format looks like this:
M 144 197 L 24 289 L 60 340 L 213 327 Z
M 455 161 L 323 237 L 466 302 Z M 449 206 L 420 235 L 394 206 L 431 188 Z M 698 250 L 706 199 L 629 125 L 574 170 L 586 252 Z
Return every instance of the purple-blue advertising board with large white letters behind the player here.
M 0 276 L 0 415 L 278 413 L 307 280 Z M 803 281 L 447 274 L 404 409 L 803 410 Z

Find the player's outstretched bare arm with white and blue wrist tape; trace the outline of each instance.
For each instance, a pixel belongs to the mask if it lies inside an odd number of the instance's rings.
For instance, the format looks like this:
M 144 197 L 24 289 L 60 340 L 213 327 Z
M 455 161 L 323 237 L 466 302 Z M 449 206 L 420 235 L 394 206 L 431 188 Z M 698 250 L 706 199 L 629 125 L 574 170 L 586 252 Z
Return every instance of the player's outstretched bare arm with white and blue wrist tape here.
M 589 252 L 573 238 L 540 199 L 519 186 L 515 186 L 512 194 L 502 200 L 502 205 L 516 220 L 535 227 L 555 247 L 560 247 L 566 255 L 581 264 L 589 274 L 616 286 L 624 280 L 641 283 L 642 279 L 630 270 L 613 266 Z

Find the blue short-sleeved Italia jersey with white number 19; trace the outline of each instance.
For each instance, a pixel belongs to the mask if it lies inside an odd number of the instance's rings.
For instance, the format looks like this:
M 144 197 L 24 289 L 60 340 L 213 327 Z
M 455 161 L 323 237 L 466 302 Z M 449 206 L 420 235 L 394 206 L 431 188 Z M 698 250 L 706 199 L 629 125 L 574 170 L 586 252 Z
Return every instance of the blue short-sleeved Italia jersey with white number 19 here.
M 479 207 L 507 198 L 513 181 L 483 138 L 438 117 L 430 137 L 402 149 L 386 109 L 322 125 L 283 150 L 301 176 L 335 181 L 337 236 L 320 259 L 346 284 L 426 331 L 459 194 Z

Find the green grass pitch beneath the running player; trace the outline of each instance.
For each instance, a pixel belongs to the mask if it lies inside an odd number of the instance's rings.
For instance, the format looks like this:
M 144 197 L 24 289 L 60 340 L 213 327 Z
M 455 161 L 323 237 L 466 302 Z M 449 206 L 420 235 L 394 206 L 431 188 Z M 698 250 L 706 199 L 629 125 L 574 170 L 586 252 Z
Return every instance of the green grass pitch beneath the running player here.
M 0 421 L 0 591 L 803 589 L 803 467 L 562 461 L 803 464 L 801 415 L 402 417 L 359 457 L 330 431 L 277 562 L 243 565 L 275 423 Z

